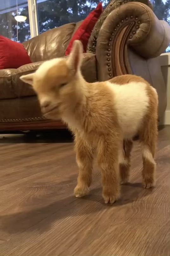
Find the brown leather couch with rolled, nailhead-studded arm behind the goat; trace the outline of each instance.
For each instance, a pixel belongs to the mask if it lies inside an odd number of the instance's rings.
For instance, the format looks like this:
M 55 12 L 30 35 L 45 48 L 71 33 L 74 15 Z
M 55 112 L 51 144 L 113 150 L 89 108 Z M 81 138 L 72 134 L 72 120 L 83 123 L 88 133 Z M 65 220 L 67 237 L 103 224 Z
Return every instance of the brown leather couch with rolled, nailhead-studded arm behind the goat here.
M 0 70 L 0 131 L 62 128 L 61 121 L 45 119 L 37 97 L 20 76 L 34 72 L 51 58 L 64 57 L 81 22 L 54 28 L 24 42 L 32 64 Z M 88 82 L 122 74 L 144 77 L 159 95 L 159 117 L 166 109 L 166 87 L 158 56 L 170 43 L 170 27 L 138 2 L 126 3 L 106 18 L 97 39 L 96 54 L 84 53 L 82 73 Z

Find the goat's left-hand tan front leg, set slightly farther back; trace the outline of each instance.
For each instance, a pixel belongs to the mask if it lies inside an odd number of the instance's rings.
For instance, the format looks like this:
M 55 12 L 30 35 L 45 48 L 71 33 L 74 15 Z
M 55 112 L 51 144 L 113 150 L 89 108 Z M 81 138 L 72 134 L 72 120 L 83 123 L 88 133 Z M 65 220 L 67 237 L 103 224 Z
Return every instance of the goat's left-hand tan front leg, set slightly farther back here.
M 76 197 L 83 197 L 88 194 L 92 180 L 93 170 L 93 149 L 82 138 L 76 136 L 76 161 L 79 167 L 77 185 L 74 189 Z

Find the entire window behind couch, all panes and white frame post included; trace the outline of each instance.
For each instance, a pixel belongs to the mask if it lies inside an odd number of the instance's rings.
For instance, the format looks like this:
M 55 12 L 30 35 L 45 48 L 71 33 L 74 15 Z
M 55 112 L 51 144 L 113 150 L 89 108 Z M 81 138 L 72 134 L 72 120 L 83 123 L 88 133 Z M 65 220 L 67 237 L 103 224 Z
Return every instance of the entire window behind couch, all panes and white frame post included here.
M 14 18 L 17 13 L 16 1 L 18 2 L 18 15 L 27 17 L 26 21 L 18 22 L 18 26 Z M 36 17 L 38 17 L 38 26 L 33 20 L 31 22 L 31 28 L 36 27 L 36 32 L 32 33 L 33 36 L 38 34 L 38 27 L 39 33 L 43 33 L 66 23 L 85 19 L 100 1 L 105 8 L 111 0 L 0 0 L 0 34 L 16 41 L 18 39 L 19 42 L 30 38 L 28 3 L 29 6 L 37 4 L 37 15 L 33 10 L 30 15 L 30 21 L 34 19 L 36 23 Z M 156 16 L 170 24 L 170 0 L 150 1 L 154 6 Z M 166 51 L 170 52 L 170 45 Z

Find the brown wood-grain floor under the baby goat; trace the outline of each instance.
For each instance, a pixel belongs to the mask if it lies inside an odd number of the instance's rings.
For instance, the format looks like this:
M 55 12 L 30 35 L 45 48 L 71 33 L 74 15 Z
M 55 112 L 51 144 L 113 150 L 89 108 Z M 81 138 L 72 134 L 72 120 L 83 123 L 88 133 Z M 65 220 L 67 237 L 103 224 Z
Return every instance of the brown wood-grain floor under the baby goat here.
M 141 185 L 136 141 L 130 183 L 112 206 L 103 203 L 96 166 L 90 195 L 73 196 L 69 136 L 0 135 L 0 256 L 169 256 L 169 134 L 169 127 L 159 131 L 156 187 Z

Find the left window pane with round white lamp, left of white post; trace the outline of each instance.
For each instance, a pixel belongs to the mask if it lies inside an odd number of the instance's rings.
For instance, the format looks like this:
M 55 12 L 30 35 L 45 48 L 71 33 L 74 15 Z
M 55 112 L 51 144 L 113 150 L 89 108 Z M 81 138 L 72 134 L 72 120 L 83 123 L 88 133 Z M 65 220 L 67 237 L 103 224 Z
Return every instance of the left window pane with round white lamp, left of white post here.
M 0 35 L 18 42 L 28 40 L 30 36 L 28 3 L 26 0 L 18 0 L 18 15 L 26 16 L 23 22 L 17 22 L 16 0 L 1 0 L 0 4 Z

